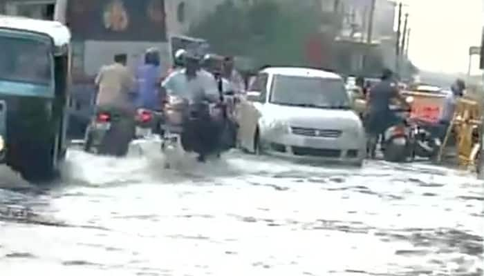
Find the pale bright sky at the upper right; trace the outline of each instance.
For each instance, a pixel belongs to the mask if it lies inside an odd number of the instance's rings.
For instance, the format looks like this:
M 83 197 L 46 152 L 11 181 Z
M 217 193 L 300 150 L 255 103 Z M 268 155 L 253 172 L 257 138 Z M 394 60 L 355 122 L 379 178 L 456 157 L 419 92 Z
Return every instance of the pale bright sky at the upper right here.
M 469 46 L 481 45 L 484 0 L 405 0 L 410 59 L 422 70 L 464 72 Z M 478 70 L 474 57 L 472 73 Z

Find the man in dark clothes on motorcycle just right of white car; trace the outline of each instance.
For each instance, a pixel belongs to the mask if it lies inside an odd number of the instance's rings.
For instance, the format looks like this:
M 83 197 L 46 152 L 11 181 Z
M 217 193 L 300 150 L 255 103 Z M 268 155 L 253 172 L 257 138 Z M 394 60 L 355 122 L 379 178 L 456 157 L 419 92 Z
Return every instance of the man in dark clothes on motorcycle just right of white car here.
M 371 144 L 375 145 L 378 137 L 400 120 L 395 112 L 390 110 L 392 100 L 396 99 L 404 108 L 409 108 L 409 104 L 400 95 L 398 85 L 393 81 L 393 72 L 389 69 L 383 70 L 381 81 L 371 88 L 366 97 L 366 131 Z M 374 149 L 369 149 L 369 151 L 371 158 L 374 158 Z

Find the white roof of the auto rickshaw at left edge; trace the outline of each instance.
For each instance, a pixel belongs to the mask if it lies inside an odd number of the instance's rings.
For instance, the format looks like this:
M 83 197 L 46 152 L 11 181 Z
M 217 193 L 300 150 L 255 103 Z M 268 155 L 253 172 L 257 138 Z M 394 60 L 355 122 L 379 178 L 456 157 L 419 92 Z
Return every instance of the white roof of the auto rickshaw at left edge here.
M 64 46 L 71 41 L 69 29 L 57 21 L 0 15 L 0 28 L 46 34 L 53 39 L 55 46 Z

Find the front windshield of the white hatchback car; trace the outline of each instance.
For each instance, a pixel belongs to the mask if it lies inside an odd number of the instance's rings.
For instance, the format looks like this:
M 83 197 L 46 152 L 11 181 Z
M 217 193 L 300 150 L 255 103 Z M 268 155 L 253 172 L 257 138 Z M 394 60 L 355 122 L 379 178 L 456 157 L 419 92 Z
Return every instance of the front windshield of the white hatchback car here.
M 275 75 L 270 102 L 287 106 L 351 108 L 340 79 Z

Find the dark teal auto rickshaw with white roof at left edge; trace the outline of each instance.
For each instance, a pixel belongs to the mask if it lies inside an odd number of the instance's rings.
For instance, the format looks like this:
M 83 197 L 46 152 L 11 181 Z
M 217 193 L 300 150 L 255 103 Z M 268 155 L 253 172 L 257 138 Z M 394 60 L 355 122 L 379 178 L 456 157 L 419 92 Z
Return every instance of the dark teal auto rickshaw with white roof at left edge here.
M 28 181 L 59 172 L 68 141 L 71 33 L 55 21 L 0 16 L 0 148 Z

